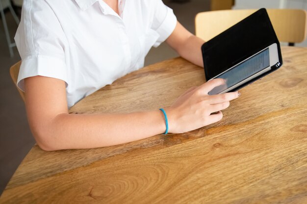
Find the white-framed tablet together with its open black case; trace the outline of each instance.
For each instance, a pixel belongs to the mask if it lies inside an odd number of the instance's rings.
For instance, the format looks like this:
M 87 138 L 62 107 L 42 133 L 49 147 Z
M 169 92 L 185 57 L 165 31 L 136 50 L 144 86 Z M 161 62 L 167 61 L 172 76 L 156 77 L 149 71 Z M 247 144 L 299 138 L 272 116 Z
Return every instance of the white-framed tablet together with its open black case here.
M 210 95 L 237 91 L 282 66 L 281 46 L 264 8 L 205 42 L 202 54 L 206 81 L 225 80 Z

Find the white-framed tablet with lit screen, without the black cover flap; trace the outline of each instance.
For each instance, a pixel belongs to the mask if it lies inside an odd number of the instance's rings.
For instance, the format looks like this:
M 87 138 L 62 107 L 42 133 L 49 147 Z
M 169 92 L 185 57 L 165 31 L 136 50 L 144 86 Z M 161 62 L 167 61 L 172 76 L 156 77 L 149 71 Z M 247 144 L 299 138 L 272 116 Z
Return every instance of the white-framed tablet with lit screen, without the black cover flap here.
M 211 78 L 210 80 L 222 78 L 225 80 L 225 84 L 215 87 L 213 90 L 209 91 L 208 94 L 214 95 L 235 90 L 242 84 L 253 81 L 253 79 L 256 77 L 264 74 L 265 72 L 269 72 L 271 67 L 274 66 L 280 66 L 276 43 L 260 50 L 241 63 Z

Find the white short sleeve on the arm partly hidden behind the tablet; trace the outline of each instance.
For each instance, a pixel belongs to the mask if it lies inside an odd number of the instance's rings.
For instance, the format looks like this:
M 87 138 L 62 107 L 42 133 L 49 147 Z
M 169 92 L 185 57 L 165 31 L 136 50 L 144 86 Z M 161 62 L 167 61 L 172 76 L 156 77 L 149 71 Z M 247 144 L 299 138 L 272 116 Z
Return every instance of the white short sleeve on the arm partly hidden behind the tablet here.
M 177 18 L 173 10 L 167 7 L 162 0 L 156 0 L 152 29 L 159 34 L 159 37 L 153 46 L 157 47 L 163 43 L 172 34 L 176 24 Z

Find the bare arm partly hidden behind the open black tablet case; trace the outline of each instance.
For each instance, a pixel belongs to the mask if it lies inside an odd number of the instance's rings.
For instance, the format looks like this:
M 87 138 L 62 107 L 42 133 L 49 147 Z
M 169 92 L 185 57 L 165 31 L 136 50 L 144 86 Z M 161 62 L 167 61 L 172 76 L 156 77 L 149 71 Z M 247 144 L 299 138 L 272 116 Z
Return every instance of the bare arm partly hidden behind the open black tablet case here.
M 201 47 L 205 41 L 190 33 L 179 22 L 166 42 L 184 59 L 204 67 Z

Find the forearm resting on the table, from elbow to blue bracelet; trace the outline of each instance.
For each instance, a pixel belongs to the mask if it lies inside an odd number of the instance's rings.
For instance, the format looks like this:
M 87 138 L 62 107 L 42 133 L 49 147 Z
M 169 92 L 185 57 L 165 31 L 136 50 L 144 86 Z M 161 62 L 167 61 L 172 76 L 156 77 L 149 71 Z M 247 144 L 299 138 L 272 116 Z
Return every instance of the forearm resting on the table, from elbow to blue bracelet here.
M 57 115 L 37 141 L 45 150 L 96 148 L 123 144 L 165 131 L 159 110 L 127 114 Z

